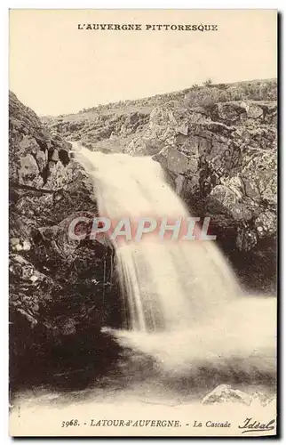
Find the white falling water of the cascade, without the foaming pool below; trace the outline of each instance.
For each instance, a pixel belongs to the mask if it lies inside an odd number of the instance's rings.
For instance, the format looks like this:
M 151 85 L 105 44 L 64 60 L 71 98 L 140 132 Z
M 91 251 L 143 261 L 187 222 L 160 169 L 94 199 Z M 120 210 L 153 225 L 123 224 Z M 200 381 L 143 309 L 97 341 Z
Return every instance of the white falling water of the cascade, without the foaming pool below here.
M 187 217 L 187 209 L 150 157 L 91 152 L 73 142 L 75 160 L 91 174 L 99 214 L 110 219 Z M 131 330 L 172 331 L 208 320 L 240 288 L 211 241 L 160 240 L 156 235 L 115 243 Z

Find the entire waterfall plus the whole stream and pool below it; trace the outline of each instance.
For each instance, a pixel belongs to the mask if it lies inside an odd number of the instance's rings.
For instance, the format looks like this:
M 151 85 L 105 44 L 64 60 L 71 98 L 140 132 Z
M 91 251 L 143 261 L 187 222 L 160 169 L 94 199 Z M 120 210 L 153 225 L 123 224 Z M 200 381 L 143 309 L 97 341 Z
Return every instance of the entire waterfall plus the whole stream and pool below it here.
M 100 215 L 115 221 L 190 216 L 152 158 L 91 152 L 78 142 L 73 150 L 75 162 L 91 176 Z M 254 394 L 254 402 L 258 392 L 274 397 L 274 297 L 247 295 L 213 241 L 149 234 L 139 241 L 111 242 L 125 320 L 121 329 L 104 327 L 100 335 L 111 336 L 121 352 L 109 360 L 102 350 L 91 358 L 91 367 L 64 368 L 51 376 L 52 384 L 18 392 L 14 416 L 19 407 L 22 413 L 42 409 L 44 416 L 47 406 L 68 413 L 94 403 L 97 410 L 121 409 L 124 403 L 134 409 L 194 408 L 226 384 L 234 384 L 247 400 Z

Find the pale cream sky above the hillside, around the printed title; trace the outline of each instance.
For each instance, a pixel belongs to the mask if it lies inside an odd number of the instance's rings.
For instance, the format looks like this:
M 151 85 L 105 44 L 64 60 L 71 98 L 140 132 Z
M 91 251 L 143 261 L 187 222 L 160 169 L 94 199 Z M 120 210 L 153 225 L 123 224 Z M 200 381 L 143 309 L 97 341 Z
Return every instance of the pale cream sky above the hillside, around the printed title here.
M 81 23 L 214 24 L 218 31 L 93 31 Z M 201 84 L 273 78 L 274 10 L 11 10 L 10 89 L 56 116 Z

